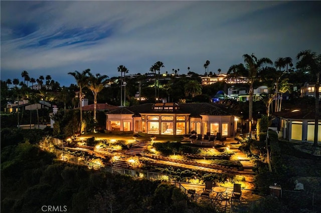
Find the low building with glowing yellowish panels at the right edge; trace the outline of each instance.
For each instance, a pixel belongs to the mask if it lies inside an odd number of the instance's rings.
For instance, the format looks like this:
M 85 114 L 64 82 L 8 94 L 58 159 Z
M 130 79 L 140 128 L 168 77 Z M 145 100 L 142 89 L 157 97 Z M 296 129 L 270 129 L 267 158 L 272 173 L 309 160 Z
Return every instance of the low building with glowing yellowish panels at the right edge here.
M 293 108 L 273 113 L 278 122 L 279 136 L 290 141 L 313 142 L 314 110 Z M 321 119 L 321 116 L 318 118 Z M 318 123 L 318 142 L 321 142 L 321 122 Z

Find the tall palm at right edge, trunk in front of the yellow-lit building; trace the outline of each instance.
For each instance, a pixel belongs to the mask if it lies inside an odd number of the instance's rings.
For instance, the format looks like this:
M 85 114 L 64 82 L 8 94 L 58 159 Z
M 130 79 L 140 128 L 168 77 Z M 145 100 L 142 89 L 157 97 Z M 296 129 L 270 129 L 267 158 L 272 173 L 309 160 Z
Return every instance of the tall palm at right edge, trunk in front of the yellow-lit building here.
M 297 68 L 307 70 L 311 75 L 316 76 L 314 86 L 315 91 L 315 114 L 314 114 L 314 140 L 313 145 L 317 146 L 318 136 L 318 116 L 319 116 L 319 87 L 320 87 L 320 73 L 321 73 L 321 54 L 316 54 L 311 50 L 300 51 L 296 55 L 299 61 L 296 63 Z

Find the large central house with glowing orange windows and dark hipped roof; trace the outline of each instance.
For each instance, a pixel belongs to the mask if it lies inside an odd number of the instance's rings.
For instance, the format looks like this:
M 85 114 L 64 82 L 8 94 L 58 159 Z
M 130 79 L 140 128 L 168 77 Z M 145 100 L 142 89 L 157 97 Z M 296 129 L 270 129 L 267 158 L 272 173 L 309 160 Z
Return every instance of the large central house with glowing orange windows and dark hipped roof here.
M 236 116 L 211 103 L 145 103 L 106 112 L 106 129 L 147 134 L 234 136 Z

